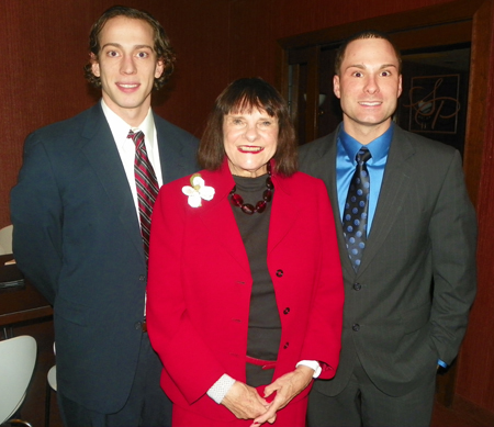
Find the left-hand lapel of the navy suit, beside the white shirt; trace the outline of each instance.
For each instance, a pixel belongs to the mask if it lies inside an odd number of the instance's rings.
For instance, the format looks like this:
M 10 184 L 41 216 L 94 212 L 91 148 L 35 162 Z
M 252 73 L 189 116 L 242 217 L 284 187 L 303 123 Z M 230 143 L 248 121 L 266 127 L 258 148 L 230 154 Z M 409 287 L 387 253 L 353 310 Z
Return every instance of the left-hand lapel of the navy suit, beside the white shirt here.
M 128 180 L 99 103 L 91 109 L 82 136 L 86 139 L 82 151 L 106 192 L 111 205 L 114 206 L 115 217 L 120 220 L 130 240 L 144 258 L 139 224 Z

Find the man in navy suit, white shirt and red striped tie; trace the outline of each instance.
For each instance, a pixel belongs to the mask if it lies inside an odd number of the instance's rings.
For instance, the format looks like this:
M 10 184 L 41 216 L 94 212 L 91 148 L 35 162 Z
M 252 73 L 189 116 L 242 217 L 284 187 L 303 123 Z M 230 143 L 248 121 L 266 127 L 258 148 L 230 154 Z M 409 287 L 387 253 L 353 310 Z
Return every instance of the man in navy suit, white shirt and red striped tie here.
M 145 322 L 153 203 L 143 200 L 198 170 L 197 139 L 150 108 L 173 63 L 153 16 L 109 9 L 92 26 L 86 67 L 101 102 L 25 142 L 13 249 L 54 306 L 65 426 L 171 425 Z

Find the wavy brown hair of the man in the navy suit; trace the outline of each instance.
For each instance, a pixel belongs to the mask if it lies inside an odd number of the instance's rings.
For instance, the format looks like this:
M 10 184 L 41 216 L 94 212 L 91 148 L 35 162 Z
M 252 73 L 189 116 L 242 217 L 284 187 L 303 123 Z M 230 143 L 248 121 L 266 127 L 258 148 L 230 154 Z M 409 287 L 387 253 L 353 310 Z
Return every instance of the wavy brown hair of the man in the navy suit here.
M 164 71 L 160 77 L 155 78 L 155 89 L 161 89 L 165 83 L 170 78 L 171 74 L 175 69 L 176 55 L 170 45 L 170 41 L 165 33 L 161 24 L 154 19 L 148 12 L 126 8 L 124 5 L 114 5 L 106 11 L 98 19 L 97 22 L 91 27 L 91 32 L 89 34 L 89 53 L 91 56 L 91 60 L 85 66 L 85 77 L 86 79 L 96 88 L 101 88 L 101 79 L 92 72 L 92 63 L 93 60 L 98 60 L 98 56 L 101 50 L 100 45 L 100 34 L 103 30 L 104 25 L 109 20 L 116 16 L 125 16 L 133 20 L 142 20 L 147 22 L 154 32 L 154 50 L 156 53 L 156 57 L 158 60 L 161 60 L 164 64 Z

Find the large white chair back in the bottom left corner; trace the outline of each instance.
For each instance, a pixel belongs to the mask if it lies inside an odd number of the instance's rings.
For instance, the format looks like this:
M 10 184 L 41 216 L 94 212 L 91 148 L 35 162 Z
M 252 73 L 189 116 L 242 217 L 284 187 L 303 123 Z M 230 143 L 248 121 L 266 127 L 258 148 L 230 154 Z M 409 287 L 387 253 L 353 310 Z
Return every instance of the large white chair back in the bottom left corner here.
M 23 335 L 0 340 L 0 424 L 21 406 L 36 362 L 36 340 Z

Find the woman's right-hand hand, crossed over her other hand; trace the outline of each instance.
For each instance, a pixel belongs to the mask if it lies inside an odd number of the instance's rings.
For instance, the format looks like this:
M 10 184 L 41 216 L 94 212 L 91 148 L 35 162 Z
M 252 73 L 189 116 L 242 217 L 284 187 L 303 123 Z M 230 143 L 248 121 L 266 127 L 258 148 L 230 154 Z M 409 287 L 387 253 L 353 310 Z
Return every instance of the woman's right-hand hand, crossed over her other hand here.
M 277 392 L 274 400 L 269 405 L 268 412 L 258 416 L 252 426 L 259 426 L 262 423 L 272 423 L 272 417 L 279 409 L 285 407 L 290 401 L 301 393 L 312 381 L 314 370 L 305 366 L 299 366 L 294 371 L 285 373 L 280 377 L 273 383 L 269 384 L 265 389 L 265 397 L 269 397 L 272 393 Z

